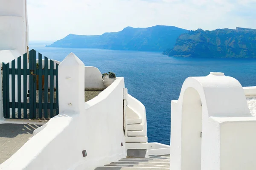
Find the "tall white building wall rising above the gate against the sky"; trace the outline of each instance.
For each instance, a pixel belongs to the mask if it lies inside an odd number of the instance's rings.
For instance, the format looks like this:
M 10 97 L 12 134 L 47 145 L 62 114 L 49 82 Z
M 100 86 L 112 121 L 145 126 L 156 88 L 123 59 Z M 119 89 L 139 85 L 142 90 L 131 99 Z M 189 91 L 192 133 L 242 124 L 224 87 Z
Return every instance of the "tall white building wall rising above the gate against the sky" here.
M 27 52 L 26 0 L 0 0 L 0 4 L 0 51 L 17 50 L 18 55 L 13 53 L 17 58 Z M 0 55 L 1 62 L 6 61 L 2 58 L 5 56 Z

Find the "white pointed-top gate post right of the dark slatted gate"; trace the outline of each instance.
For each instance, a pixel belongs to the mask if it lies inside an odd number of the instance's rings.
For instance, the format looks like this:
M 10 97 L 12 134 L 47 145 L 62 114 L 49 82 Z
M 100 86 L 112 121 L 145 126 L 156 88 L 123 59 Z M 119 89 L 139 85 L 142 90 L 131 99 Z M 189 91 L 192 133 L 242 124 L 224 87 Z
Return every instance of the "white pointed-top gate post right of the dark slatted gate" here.
M 70 53 L 58 66 L 59 114 L 84 111 L 84 63 Z

